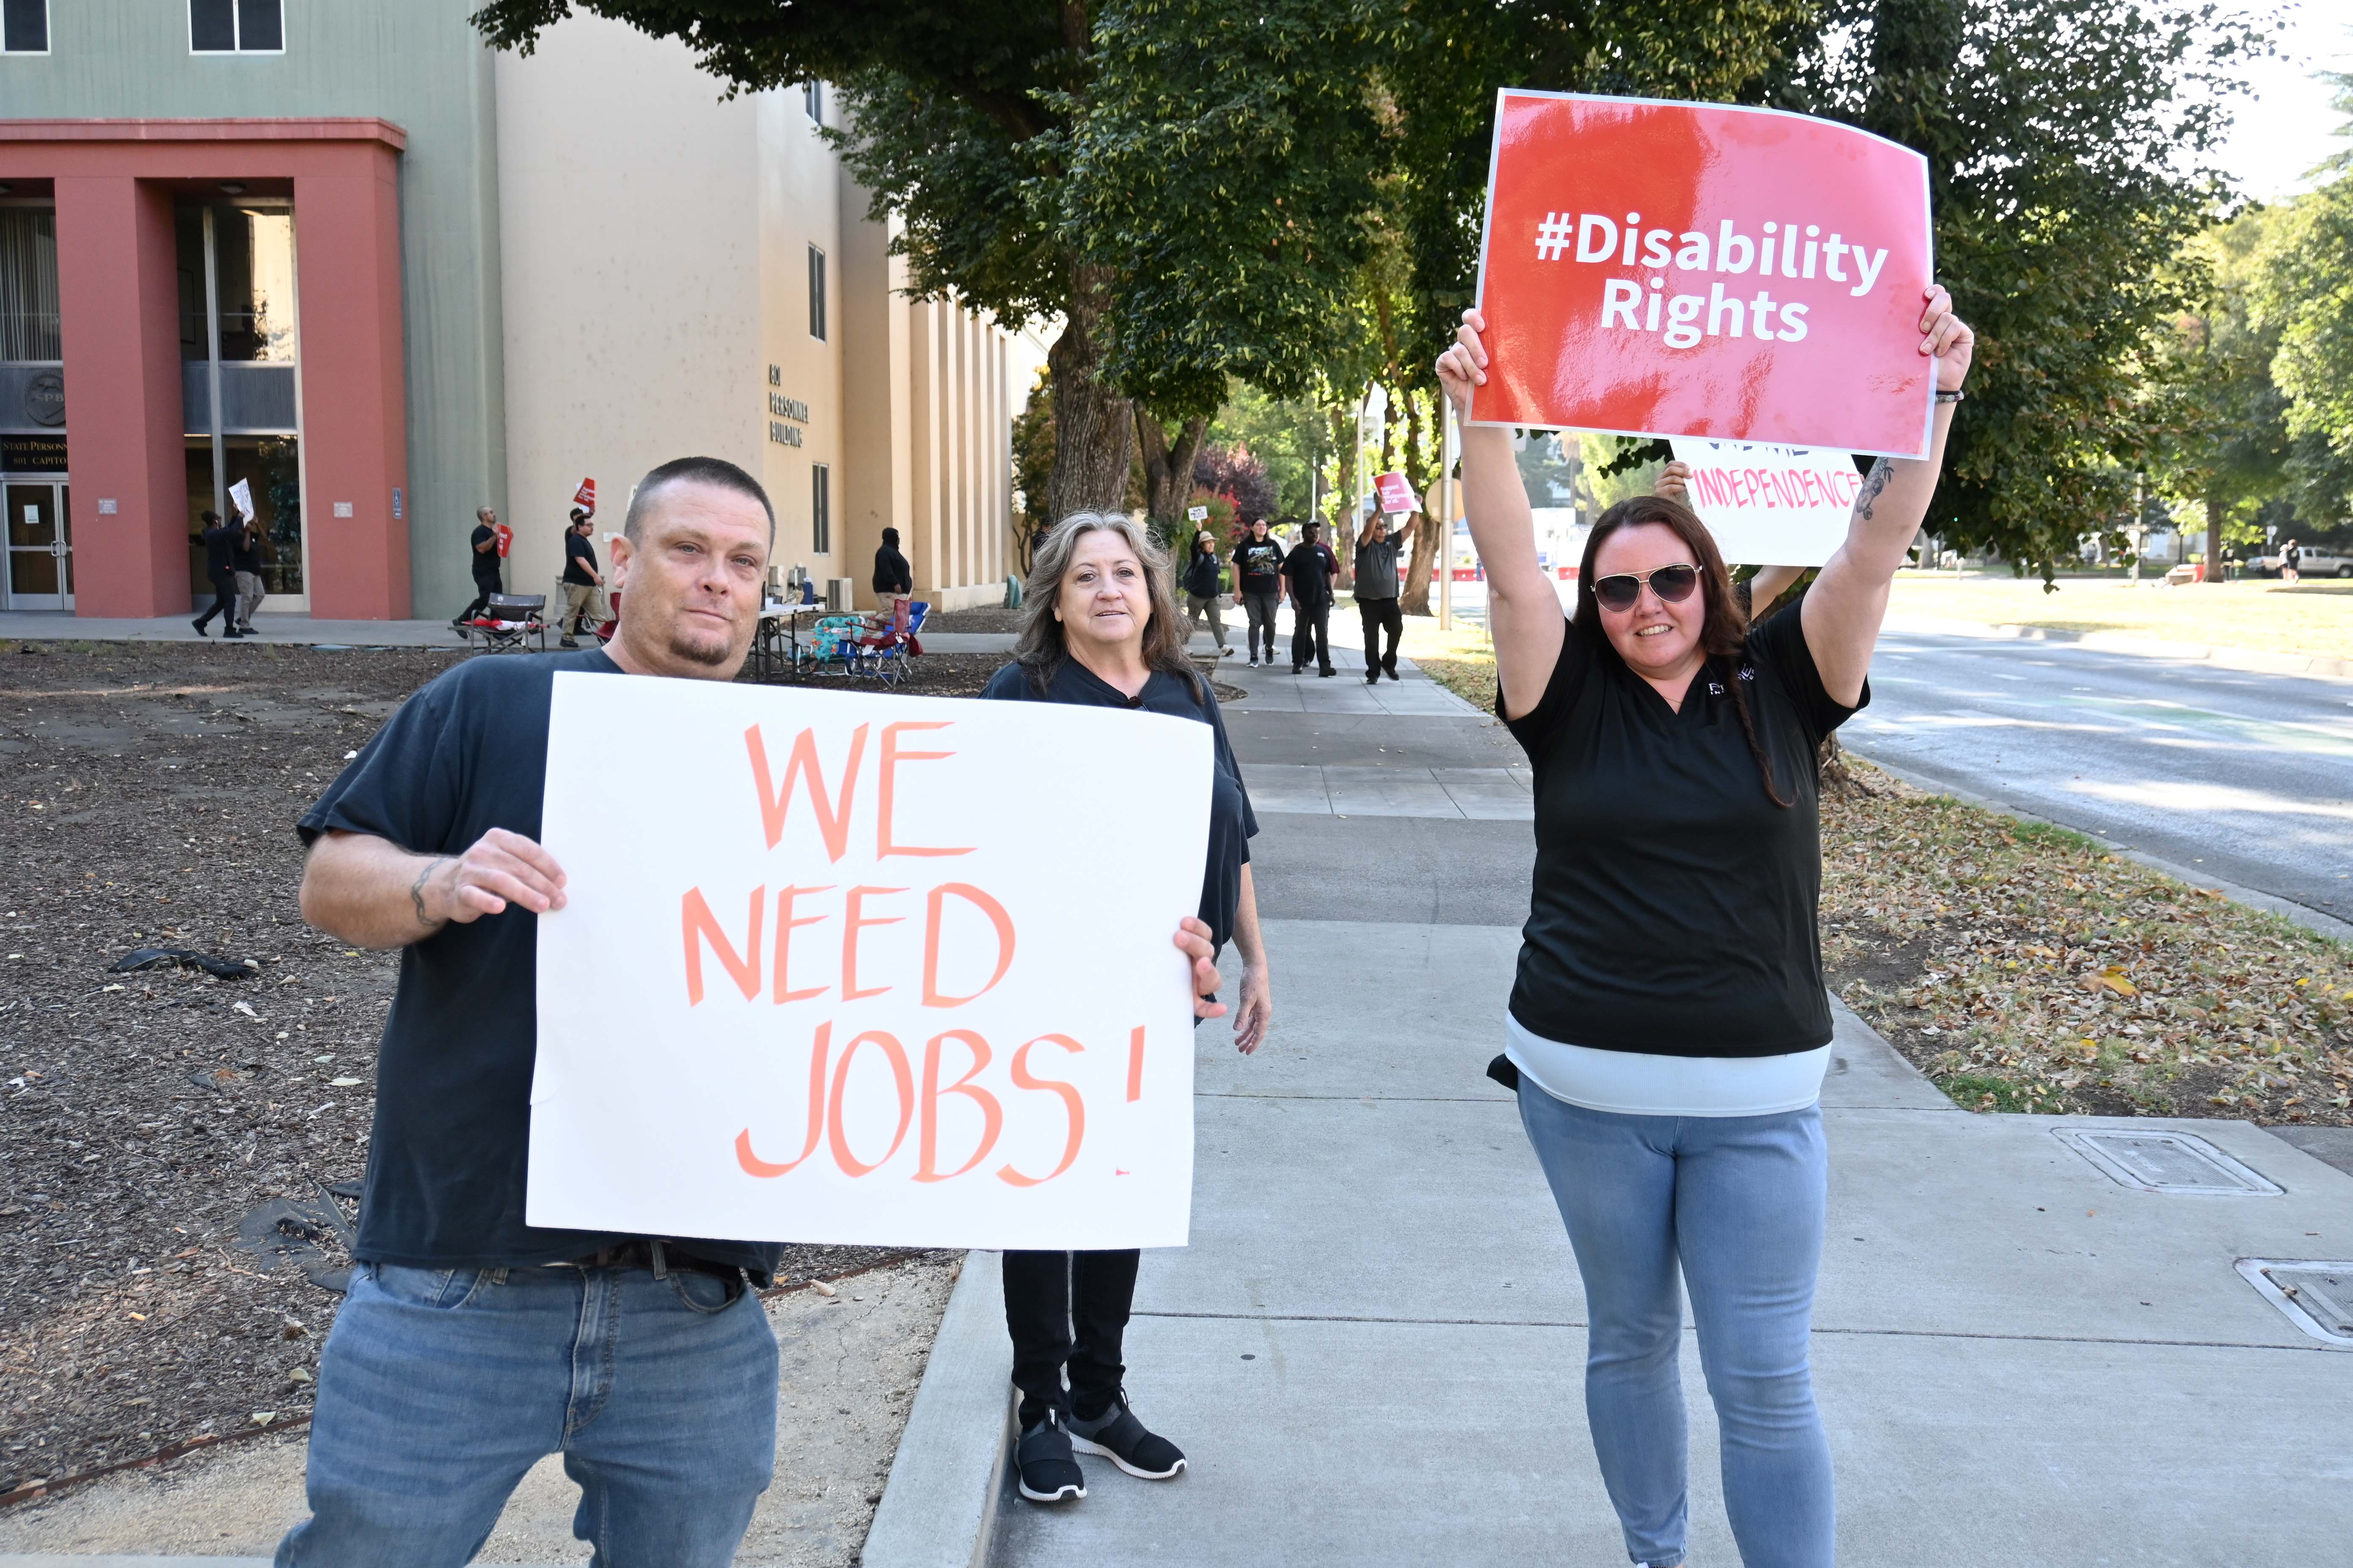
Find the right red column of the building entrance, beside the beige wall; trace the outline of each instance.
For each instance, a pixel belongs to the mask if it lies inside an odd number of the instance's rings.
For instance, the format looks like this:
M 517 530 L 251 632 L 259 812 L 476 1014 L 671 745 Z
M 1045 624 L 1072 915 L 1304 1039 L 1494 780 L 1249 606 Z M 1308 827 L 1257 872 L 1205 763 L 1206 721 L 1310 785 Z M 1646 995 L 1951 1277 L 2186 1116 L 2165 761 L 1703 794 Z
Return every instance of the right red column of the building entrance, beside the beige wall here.
M 400 162 L 294 176 L 311 614 L 409 614 L 409 437 L 400 360 Z M 393 496 L 400 515 L 393 515 Z M 344 515 L 344 508 L 351 508 Z

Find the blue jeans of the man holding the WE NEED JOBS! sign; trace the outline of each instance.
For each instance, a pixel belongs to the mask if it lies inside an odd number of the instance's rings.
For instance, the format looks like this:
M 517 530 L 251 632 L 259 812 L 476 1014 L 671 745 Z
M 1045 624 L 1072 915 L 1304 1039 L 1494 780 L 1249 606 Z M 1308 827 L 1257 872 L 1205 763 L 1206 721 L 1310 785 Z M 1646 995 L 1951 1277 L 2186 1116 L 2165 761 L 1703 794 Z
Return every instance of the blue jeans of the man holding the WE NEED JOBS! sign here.
M 466 1563 L 548 1453 L 598 1568 L 727 1563 L 776 1467 L 760 1298 L 694 1269 L 355 1267 L 278 1568 Z

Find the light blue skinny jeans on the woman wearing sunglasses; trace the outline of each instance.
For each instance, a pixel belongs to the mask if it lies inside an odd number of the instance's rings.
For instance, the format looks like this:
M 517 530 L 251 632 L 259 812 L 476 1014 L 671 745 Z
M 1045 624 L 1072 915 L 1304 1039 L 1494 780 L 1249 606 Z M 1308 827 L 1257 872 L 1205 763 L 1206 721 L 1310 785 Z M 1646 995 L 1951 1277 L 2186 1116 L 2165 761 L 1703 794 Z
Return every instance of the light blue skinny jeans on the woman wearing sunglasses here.
M 1807 1371 L 1828 1190 L 1821 1110 L 1624 1117 L 1522 1077 L 1520 1121 L 1586 1281 L 1586 1420 L 1628 1556 L 1680 1563 L 1685 1552 L 1680 1262 L 1741 1563 L 1828 1568 L 1831 1446 Z

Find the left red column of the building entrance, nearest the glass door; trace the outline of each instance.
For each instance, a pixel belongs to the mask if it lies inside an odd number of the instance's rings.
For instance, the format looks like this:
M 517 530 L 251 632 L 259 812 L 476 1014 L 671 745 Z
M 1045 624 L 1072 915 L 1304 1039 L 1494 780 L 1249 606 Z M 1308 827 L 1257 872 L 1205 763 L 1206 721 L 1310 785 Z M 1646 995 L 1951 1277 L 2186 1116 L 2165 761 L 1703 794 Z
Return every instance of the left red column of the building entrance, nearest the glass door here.
M 82 616 L 188 611 L 172 193 L 129 174 L 56 179 L 56 303 Z

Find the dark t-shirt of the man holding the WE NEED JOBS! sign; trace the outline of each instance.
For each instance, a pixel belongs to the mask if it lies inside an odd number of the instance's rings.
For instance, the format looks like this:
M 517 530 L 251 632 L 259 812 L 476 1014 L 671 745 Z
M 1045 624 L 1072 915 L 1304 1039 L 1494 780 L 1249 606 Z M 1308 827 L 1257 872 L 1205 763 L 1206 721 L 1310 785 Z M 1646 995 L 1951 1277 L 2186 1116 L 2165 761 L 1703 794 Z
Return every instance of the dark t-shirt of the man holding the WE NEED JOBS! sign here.
M 593 651 L 475 658 L 438 677 L 304 813 L 304 844 L 344 830 L 454 856 L 492 827 L 536 839 L 558 670 L 619 675 Z M 628 1239 L 522 1222 L 536 985 L 539 917 L 527 910 L 449 924 L 400 950 L 400 990 L 376 1058 L 358 1258 L 421 1269 L 529 1267 Z M 779 1248 L 696 1239 L 678 1251 L 765 1281 Z

